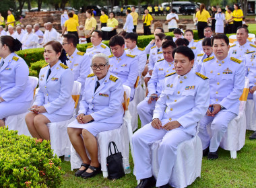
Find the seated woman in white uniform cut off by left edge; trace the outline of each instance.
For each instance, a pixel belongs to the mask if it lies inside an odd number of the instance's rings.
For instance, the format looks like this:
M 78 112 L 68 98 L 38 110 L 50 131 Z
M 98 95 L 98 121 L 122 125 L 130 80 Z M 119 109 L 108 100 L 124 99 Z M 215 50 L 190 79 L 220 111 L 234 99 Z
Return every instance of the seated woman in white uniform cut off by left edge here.
M 0 126 L 5 126 L 7 116 L 28 111 L 33 99 L 28 65 L 14 53 L 21 48 L 19 40 L 0 37 Z

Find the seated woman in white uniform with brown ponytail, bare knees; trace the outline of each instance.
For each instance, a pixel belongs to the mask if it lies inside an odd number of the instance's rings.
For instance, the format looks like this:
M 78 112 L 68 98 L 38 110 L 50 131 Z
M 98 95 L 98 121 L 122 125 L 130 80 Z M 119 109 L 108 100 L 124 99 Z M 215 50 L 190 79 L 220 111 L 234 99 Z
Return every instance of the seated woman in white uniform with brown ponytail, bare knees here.
M 65 56 L 62 45 L 57 41 L 47 42 L 44 46 L 44 60 L 39 73 L 39 90 L 36 101 L 26 115 L 26 124 L 34 138 L 50 140 L 50 122 L 69 120 L 75 106 L 71 97 L 73 73 L 61 63 Z

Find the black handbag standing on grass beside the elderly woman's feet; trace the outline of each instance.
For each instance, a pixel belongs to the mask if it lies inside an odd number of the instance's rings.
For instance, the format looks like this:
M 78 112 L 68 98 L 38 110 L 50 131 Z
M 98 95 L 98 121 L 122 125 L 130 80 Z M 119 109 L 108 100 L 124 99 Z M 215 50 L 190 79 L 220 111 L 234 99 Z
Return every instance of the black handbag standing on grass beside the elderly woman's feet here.
M 113 154 L 111 151 L 111 144 L 113 144 L 115 149 L 115 153 Z M 123 156 L 117 149 L 115 142 L 109 142 L 108 144 L 108 157 L 106 158 L 106 167 L 108 168 L 108 179 L 119 179 L 125 176 L 125 171 L 123 170 Z

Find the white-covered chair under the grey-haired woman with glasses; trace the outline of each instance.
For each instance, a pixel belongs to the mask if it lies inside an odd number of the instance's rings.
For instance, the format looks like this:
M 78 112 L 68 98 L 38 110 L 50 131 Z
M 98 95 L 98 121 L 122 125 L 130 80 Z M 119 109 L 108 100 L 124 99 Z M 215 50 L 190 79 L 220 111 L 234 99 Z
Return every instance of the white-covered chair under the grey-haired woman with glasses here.
M 108 171 L 106 167 L 106 157 L 108 156 L 108 143 L 111 141 L 114 141 L 117 144 L 117 148 L 119 152 L 122 153 L 123 156 L 123 166 L 129 167 L 129 132 L 132 135 L 131 131 L 131 115 L 129 115 L 128 105 L 129 105 L 129 96 L 131 94 L 131 89 L 125 85 L 123 85 L 123 88 L 125 90 L 125 94 L 127 97 L 123 102 L 123 107 L 125 109 L 125 115 L 124 115 L 124 122 L 123 125 L 121 125 L 120 128 L 117 128 L 115 130 L 108 130 L 104 132 L 100 132 L 96 136 L 96 139 L 98 141 L 98 161 L 101 164 L 101 170 L 103 173 L 103 177 L 108 177 Z M 129 128 L 129 131 L 128 131 Z M 89 155 L 88 155 L 89 156 Z M 82 160 L 71 145 L 71 171 L 73 169 L 79 169 L 82 164 Z

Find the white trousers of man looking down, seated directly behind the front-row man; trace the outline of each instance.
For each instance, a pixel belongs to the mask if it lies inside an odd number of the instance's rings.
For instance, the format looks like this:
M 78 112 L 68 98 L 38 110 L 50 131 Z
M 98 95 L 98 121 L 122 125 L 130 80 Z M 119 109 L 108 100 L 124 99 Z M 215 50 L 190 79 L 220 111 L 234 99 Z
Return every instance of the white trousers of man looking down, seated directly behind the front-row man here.
M 152 103 L 149 104 L 148 98 L 144 99 L 137 105 L 137 112 L 139 114 L 139 119 L 141 120 L 141 128 L 152 122 L 155 105 L 156 101 L 152 101 Z

